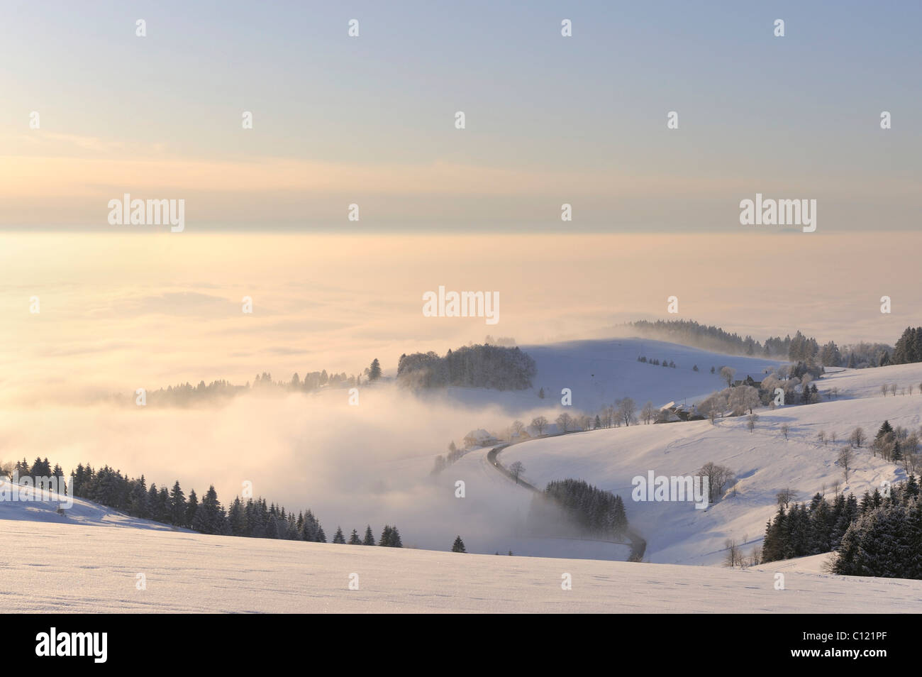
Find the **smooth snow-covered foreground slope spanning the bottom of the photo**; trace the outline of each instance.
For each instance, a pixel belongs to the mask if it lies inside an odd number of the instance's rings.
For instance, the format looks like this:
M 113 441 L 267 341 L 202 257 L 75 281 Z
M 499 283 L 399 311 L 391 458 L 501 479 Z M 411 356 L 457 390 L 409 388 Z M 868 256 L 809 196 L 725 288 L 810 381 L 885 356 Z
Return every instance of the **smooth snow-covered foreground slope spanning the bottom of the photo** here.
M 922 611 L 922 581 L 793 562 L 739 571 L 3 520 L 0 538 L 5 612 Z

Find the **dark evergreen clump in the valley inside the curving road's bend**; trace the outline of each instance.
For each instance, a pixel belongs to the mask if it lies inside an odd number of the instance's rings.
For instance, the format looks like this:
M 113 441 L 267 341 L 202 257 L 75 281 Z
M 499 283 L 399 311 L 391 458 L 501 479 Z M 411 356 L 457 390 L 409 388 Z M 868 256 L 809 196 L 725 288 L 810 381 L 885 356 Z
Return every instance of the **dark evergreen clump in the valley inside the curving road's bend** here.
M 560 508 L 573 526 L 588 536 L 620 539 L 628 528 L 621 496 L 597 489 L 583 480 L 548 482 L 544 492 L 536 493 L 532 499 L 528 513 L 529 529 L 535 533 L 548 533 L 554 522 L 550 506 Z

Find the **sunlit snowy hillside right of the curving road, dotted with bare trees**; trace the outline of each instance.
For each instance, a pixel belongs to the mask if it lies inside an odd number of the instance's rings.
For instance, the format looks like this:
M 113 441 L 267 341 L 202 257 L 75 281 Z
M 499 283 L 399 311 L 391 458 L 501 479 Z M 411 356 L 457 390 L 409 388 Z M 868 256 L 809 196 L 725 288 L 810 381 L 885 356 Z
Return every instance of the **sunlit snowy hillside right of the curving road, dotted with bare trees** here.
M 913 395 L 881 396 L 881 384 L 908 386 Z M 514 445 L 501 455 L 503 464 L 519 460 L 526 480 L 543 486 L 550 480 L 573 477 L 620 493 L 628 517 L 648 542 L 651 562 L 718 564 L 727 539 L 748 543 L 762 540 L 765 523 L 777 509 L 775 496 L 796 490 L 798 500 L 809 501 L 817 492 L 855 493 L 881 486 L 881 481 L 905 478 L 902 468 L 857 452 L 854 469 L 845 482 L 836 458 L 843 441 L 856 426 L 872 438 L 885 419 L 892 425 L 917 429 L 922 424 L 922 364 L 878 369 L 843 370 L 817 382 L 822 392 L 837 387 L 837 399 L 810 405 L 788 405 L 777 410 L 756 410 L 760 419 L 749 432 L 746 418 L 633 425 L 549 437 Z M 790 427 L 788 439 L 781 426 Z M 822 444 L 819 432 L 836 434 L 837 443 Z M 653 503 L 631 500 L 632 478 L 696 474 L 712 461 L 732 469 L 738 478 L 737 495 L 707 510 L 691 503 Z

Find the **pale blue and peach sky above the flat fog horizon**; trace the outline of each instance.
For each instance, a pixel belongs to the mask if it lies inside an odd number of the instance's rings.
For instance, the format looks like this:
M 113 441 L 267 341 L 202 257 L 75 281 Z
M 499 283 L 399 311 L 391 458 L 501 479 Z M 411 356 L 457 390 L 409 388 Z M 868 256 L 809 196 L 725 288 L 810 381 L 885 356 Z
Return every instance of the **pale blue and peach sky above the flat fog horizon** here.
M 0 228 L 112 232 L 128 193 L 184 199 L 187 231 L 726 233 L 762 193 L 817 199 L 823 231 L 913 230 L 920 19 L 904 2 L 4 0 Z

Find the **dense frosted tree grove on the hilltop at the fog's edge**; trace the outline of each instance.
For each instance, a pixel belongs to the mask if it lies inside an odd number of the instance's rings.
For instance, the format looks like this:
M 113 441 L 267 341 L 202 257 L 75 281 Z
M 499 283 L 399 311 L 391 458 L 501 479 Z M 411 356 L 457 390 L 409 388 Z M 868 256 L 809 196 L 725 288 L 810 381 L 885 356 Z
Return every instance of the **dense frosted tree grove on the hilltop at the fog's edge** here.
M 474 345 L 435 352 L 414 352 L 400 356 L 397 381 L 404 386 L 487 387 L 496 390 L 524 390 L 537 373 L 535 361 L 518 347 Z

